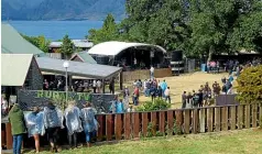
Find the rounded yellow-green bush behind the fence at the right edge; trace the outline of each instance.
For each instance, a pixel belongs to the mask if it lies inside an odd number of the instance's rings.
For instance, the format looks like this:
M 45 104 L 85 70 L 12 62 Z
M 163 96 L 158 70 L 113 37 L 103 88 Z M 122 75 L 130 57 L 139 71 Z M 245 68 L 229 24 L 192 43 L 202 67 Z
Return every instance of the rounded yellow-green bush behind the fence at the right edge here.
M 240 103 L 262 102 L 262 65 L 245 68 L 237 81 L 237 99 Z

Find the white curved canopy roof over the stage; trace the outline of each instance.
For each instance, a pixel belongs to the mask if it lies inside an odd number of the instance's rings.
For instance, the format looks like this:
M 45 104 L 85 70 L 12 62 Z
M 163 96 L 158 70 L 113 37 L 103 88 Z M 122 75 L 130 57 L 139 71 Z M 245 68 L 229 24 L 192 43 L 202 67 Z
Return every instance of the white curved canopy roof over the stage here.
M 88 53 L 94 55 L 114 56 L 118 55 L 120 52 L 130 47 L 153 47 L 159 51 L 162 51 L 163 53 L 166 53 L 166 51 L 159 45 L 144 44 L 144 43 L 116 42 L 116 41 L 97 44 L 94 47 L 91 47 L 88 51 Z

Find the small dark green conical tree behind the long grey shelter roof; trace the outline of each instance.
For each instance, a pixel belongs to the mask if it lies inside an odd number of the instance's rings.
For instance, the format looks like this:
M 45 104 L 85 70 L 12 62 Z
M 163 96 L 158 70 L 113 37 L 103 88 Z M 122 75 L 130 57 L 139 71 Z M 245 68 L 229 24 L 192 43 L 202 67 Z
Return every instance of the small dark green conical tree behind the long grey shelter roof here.
M 63 37 L 61 53 L 65 54 L 66 58 L 74 53 L 74 43 L 72 42 L 72 40 L 69 38 L 67 34 Z

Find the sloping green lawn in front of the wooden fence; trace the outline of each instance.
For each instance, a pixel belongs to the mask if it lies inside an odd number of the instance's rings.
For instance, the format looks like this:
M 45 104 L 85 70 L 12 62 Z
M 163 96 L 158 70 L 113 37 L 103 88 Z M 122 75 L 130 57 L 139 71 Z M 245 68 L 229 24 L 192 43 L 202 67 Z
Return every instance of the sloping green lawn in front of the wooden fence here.
M 32 153 L 32 152 L 31 152 Z M 47 152 L 42 152 L 47 153 Z M 190 134 L 124 141 L 111 145 L 64 150 L 64 154 L 262 154 L 262 130 Z

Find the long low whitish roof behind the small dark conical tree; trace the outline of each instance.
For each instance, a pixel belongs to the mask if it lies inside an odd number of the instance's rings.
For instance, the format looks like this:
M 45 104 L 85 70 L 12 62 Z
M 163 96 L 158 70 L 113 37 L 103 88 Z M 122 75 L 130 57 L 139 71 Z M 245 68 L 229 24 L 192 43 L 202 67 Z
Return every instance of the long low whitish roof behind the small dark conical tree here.
M 72 42 L 74 43 L 74 45 L 76 47 L 81 47 L 81 48 L 89 48 L 92 47 L 94 43 L 89 42 L 88 40 L 72 40 Z M 63 44 L 63 42 L 51 42 L 50 43 L 50 47 L 61 47 Z

